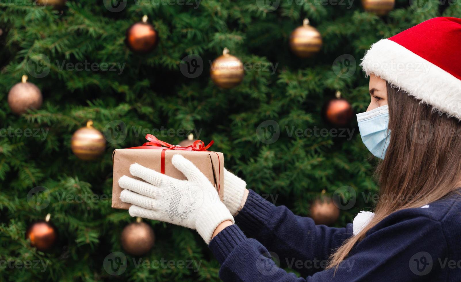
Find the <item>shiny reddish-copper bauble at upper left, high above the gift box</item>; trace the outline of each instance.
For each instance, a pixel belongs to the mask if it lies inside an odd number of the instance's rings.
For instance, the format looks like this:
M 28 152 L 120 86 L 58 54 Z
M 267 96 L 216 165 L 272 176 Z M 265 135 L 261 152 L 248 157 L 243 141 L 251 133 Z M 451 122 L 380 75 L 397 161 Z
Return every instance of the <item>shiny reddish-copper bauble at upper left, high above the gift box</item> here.
M 126 30 L 126 44 L 137 53 L 152 51 L 157 46 L 158 37 L 157 30 L 147 22 L 147 16 L 142 18 L 142 22 L 133 24 Z

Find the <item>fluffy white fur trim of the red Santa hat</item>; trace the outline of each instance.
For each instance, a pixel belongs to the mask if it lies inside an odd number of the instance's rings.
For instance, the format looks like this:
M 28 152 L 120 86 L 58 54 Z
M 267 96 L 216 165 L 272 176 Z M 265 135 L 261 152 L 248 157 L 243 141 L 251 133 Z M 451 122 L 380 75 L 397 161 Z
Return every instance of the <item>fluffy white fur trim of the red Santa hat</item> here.
M 441 50 L 443 52 L 443 50 Z M 409 95 L 433 106 L 433 111 L 461 120 L 461 80 L 389 39 L 381 39 L 360 64 Z

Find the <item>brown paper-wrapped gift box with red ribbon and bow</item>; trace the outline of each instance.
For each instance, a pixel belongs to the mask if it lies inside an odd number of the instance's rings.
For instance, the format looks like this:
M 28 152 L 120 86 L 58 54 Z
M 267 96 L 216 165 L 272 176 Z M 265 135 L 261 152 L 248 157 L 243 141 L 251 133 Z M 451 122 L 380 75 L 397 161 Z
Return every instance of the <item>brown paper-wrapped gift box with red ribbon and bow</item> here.
M 176 179 L 185 180 L 182 172 L 177 170 L 171 163 L 171 158 L 180 154 L 195 166 L 210 180 L 211 184 L 218 191 L 219 198 L 223 198 L 224 187 L 224 155 L 221 152 L 209 151 L 213 144 L 207 146 L 201 141 L 196 140 L 193 145 L 188 147 L 174 146 L 164 141 L 160 141 L 153 135 L 146 136 L 150 142 L 144 143 L 139 147 L 127 149 L 117 149 L 112 153 L 113 162 L 113 182 L 112 182 L 112 208 L 128 210 L 131 204 L 120 200 L 122 188 L 118 186 L 118 179 L 123 175 L 134 177 L 130 174 L 130 165 L 139 163 L 140 165 L 152 170 L 161 172 Z M 142 180 L 142 179 L 141 179 Z

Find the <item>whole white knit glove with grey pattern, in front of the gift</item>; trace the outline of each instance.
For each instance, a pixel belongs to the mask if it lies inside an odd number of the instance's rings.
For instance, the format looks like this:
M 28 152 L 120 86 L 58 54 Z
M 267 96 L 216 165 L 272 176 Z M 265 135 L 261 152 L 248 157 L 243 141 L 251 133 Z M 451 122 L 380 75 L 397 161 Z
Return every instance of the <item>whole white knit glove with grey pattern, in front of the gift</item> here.
M 118 184 L 124 190 L 120 199 L 133 204 L 130 216 L 141 216 L 195 229 L 208 244 L 221 222 L 234 218 L 219 200 L 218 192 L 205 175 L 181 155 L 173 156 L 171 163 L 188 180 L 178 180 L 140 164 L 130 166 L 130 173 L 147 182 L 120 177 Z

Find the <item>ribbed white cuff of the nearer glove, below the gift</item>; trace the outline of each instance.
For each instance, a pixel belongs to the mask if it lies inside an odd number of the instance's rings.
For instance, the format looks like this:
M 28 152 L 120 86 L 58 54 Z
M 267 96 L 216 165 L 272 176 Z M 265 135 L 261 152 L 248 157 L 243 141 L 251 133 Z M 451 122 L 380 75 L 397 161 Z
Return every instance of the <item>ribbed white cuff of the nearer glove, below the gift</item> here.
M 226 220 L 235 223 L 234 217 L 229 210 L 227 210 L 221 201 L 218 201 L 203 209 L 202 214 L 198 215 L 197 221 L 195 222 L 195 229 L 208 245 L 214 230 L 216 230 L 219 224 Z

